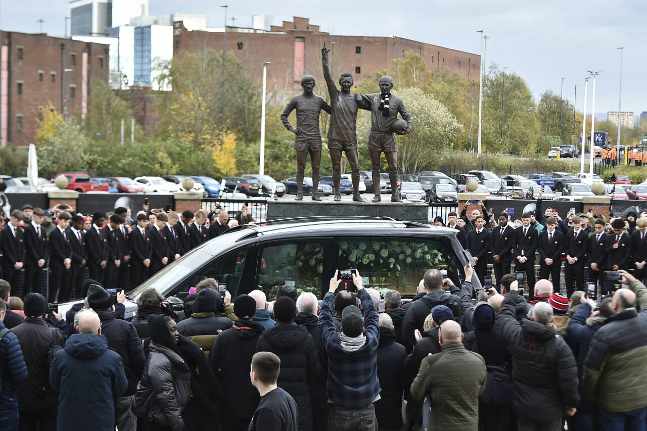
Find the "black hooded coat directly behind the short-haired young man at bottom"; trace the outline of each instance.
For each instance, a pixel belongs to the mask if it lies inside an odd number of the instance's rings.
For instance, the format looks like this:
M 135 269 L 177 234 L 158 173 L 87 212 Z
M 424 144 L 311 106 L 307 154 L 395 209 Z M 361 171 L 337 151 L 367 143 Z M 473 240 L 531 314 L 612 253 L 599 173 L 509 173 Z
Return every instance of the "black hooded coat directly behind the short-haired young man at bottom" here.
M 313 429 L 313 406 L 321 364 L 317 346 L 308 330 L 294 322 L 277 323 L 265 329 L 256 351 L 271 351 L 281 359 L 278 386 L 292 395 L 299 408 L 299 431 Z

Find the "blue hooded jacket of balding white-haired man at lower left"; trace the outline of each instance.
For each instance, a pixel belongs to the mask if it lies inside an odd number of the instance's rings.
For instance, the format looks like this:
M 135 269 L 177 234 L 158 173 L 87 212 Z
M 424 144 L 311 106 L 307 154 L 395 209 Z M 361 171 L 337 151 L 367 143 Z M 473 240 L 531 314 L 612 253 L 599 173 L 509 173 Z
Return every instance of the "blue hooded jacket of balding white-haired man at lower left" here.
M 56 428 L 115 430 L 115 399 L 128 387 L 122 359 L 104 335 L 73 334 L 54 355 L 49 384 L 58 392 Z

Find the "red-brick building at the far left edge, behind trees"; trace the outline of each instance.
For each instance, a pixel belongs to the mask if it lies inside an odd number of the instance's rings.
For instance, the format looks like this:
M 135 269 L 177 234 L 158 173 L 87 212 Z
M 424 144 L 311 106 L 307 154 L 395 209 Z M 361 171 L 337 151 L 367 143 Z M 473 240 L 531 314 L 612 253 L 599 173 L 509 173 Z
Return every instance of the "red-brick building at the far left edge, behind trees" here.
M 64 62 L 66 39 L 5 31 L 0 39 L 0 146 L 34 143 L 41 109 L 63 112 L 63 74 L 68 116 L 85 116 L 93 80 L 108 77 L 107 45 L 67 39 Z

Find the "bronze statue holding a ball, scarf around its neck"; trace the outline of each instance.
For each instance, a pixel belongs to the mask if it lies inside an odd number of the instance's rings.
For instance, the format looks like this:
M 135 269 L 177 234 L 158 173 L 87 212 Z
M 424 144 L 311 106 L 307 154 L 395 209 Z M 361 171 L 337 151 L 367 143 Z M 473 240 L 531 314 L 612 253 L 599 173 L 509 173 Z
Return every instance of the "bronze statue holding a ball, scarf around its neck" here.
M 395 134 L 406 135 L 411 131 L 411 116 L 398 96 L 391 94 L 393 78 L 380 78 L 380 93 L 355 94 L 355 100 L 361 109 L 371 111 L 371 133 L 368 138 L 368 152 L 371 157 L 373 173 L 373 202 L 380 199 L 380 153 L 384 153 L 389 163 L 389 181 L 391 182 L 391 202 L 402 202 L 398 197 L 398 142 Z M 394 130 L 391 126 L 398 119 L 398 113 L 406 121 L 402 130 Z

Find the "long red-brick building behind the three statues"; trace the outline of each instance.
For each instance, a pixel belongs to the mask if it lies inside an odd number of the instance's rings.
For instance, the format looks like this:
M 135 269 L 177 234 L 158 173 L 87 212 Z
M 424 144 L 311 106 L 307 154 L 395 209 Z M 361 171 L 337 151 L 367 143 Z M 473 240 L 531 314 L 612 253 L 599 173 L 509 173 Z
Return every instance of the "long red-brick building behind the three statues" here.
M 182 52 L 223 49 L 223 32 L 187 30 L 182 22 L 173 23 L 173 56 Z M 333 76 L 350 72 L 355 83 L 369 74 L 388 69 L 393 58 L 404 51 L 418 52 L 428 69 L 444 68 L 457 72 L 464 80 L 478 81 L 481 59 L 478 54 L 448 49 L 410 39 L 372 36 L 338 36 L 319 30 L 308 18 L 294 17 L 294 22 L 272 25 L 269 32 L 250 28 L 227 27 L 227 47 L 248 71 L 262 79 L 261 62 L 271 61 L 267 68 L 269 91 L 292 93 L 300 90 L 303 74 L 312 74 L 323 85 L 321 47 L 331 49 Z M 479 69 L 477 69 L 479 67 Z M 323 86 L 322 88 L 324 88 Z

